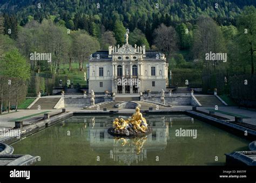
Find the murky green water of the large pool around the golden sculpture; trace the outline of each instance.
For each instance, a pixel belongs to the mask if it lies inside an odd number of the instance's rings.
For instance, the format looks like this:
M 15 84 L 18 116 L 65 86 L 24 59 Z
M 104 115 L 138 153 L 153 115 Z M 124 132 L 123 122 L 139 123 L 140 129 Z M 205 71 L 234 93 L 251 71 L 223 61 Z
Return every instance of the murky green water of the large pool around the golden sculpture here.
M 14 153 L 40 156 L 36 165 L 224 165 L 224 153 L 250 143 L 185 115 L 145 116 L 152 134 L 113 138 L 116 117 L 71 117 L 12 144 Z

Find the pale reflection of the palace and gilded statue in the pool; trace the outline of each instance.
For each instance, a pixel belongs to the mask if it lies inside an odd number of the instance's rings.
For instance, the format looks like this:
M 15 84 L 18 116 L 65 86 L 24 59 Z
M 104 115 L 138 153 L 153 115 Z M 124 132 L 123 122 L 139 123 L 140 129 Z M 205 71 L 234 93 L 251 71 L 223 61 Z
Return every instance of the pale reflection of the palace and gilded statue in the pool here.
M 125 117 L 125 116 L 122 116 Z M 126 165 L 138 163 L 146 159 L 147 151 L 157 152 L 165 149 L 167 138 L 169 138 L 169 122 L 177 120 L 178 117 L 161 117 L 160 120 L 151 117 L 149 124 L 153 127 L 153 132 L 145 137 L 121 138 L 112 137 L 107 133 L 111 126 L 112 118 L 101 119 L 95 117 L 88 118 L 84 123 L 84 128 L 89 126 L 90 145 L 97 151 L 102 151 L 109 147 L 110 158 L 114 161 L 122 161 Z M 186 121 L 192 121 L 190 117 L 179 117 Z M 70 118 L 65 123 L 83 122 L 82 118 Z

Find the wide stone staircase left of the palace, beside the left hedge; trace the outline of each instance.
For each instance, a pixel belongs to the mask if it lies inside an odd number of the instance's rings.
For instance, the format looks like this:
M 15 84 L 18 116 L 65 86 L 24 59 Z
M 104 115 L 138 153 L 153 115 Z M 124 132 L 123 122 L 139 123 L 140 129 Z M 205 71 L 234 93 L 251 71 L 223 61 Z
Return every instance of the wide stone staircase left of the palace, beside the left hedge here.
M 59 101 L 60 97 L 56 98 L 39 98 L 35 104 L 30 109 L 38 109 L 38 105 L 40 105 L 41 109 L 53 109 L 57 102 Z

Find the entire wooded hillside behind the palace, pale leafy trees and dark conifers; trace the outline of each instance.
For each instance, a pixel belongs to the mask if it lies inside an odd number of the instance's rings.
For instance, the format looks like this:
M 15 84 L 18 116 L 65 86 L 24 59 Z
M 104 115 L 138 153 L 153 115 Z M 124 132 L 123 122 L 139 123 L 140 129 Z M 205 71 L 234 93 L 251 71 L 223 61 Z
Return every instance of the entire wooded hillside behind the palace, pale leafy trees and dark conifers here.
M 129 29 L 129 44 L 144 44 L 146 50 L 166 55 L 170 85 L 186 86 L 189 80 L 205 93 L 217 88 L 232 94 L 229 88 L 242 87 L 230 82 L 232 76 L 238 77 L 233 81 L 249 77 L 248 83 L 255 78 L 255 5 L 255 0 L 2 0 L 0 30 L 5 35 L 0 34 L 0 64 L 6 63 L 0 74 L 12 67 L 6 55 L 15 54 L 26 60 L 32 74 L 85 85 L 90 55 L 124 44 Z M 51 53 L 52 61 L 30 59 L 34 52 Z M 211 53 L 226 55 L 225 61 L 207 59 Z M 16 77 L 15 73 L 7 76 Z M 254 91 L 256 85 L 250 85 L 246 90 Z M 48 87 L 45 81 L 41 90 L 49 92 Z M 243 97 L 247 96 L 255 95 Z

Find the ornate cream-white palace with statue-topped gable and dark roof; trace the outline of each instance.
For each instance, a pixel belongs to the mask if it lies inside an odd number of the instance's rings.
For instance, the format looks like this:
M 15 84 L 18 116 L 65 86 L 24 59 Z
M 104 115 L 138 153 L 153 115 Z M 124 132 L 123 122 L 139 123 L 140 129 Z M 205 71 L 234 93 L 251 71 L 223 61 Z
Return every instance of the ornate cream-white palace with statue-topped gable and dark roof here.
M 89 92 L 134 94 L 146 90 L 166 90 L 168 66 L 164 54 L 146 51 L 145 45 L 126 43 L 120 47 L 109 46 L 109 51 L 97 51 L 87 65 Z

